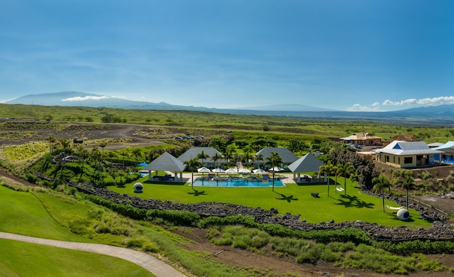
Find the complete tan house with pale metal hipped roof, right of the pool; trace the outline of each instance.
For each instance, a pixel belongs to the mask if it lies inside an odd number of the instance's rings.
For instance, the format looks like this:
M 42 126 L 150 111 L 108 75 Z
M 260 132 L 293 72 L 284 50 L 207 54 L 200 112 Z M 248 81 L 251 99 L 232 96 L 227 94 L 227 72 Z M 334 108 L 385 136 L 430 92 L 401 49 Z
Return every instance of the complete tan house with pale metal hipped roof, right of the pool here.
M 375 161 L 396 168 L 414 168 L 435 163 L 435 155 L 443 153 L 429 148 L 424 141 L 393 141 L 374 150 Z

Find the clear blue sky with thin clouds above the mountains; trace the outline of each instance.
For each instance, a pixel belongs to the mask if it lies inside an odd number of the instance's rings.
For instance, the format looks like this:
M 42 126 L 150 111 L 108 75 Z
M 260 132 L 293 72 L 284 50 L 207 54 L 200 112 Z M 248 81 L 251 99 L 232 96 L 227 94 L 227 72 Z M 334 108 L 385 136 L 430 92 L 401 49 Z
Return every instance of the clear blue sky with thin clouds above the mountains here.
M 454 104 L 454 1 L 0 2 L 0 102 L 78 91 L 216 108 Z

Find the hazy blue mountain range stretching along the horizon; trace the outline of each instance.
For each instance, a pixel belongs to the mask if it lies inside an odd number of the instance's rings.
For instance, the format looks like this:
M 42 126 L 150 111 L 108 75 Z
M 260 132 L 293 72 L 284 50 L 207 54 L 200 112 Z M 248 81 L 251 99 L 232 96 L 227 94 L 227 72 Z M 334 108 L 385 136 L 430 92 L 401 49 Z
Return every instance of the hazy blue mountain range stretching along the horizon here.
M 454 104 L 418 107 L 394 112 L 340 112 L 299 104 L 275 104 L 272 106 L 248 107 L 238 109 L 215 109 L 206 107 L 179 106 L 165 102 L 139 102 L 118 97 L 91 94 L 84 92 L 54 92 L 29 94 L 18 97 L 5 104 L 35 104 L 45 106 L 67 107 L 106 107 L 116 109 L 161 109 L 187 110 L 200 112 L 217 112 L 230 114 L 256 114 L 273 116 L 290 116 L 310 119 L 355 119 L 375 121 L 406 122 L 407 124 L 428 124 L 454 126 Z

